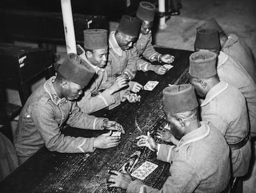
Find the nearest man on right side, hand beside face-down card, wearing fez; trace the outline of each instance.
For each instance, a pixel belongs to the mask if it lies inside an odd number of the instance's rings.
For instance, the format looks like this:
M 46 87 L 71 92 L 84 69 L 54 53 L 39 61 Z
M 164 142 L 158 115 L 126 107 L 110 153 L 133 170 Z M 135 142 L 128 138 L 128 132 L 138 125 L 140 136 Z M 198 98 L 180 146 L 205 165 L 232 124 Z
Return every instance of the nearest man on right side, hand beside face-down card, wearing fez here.
M 109 187 L 126 192 L 221 192 L 228 189 L 229 147 L 213 125 L 198 120 L 198 103 L 191 84 L 169 86 L 163 90 L 166 120 L 179 140 L 177 146 L 156 144 L 148 133 L 137 145 L 156 151 L 157 158 L 171 163 L 168 179 L 161 190 L 132 181 L 127 173 L 110 171 Z M 186 190 L 186 191 L 185 191 Z

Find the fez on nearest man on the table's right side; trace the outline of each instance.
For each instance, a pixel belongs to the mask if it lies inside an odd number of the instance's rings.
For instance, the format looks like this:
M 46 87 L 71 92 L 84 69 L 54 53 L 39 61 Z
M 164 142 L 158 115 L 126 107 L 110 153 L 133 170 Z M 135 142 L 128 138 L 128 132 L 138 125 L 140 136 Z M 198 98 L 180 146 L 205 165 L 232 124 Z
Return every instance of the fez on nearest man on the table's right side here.
M 163 89 L 164 112 L 170 114 L 182 113 L 194 110 L 197 107 L 197 97 L 192 84 L 173 85 Z

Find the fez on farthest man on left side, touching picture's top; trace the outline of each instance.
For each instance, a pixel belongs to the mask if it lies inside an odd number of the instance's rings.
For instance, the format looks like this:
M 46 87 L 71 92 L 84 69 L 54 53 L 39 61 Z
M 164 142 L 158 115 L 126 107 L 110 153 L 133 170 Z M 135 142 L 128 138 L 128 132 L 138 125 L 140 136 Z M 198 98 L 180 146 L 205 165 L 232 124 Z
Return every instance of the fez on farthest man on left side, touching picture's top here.
M 156 7 L 147 1 L 141 1 L 136 13 L 136 16 L 147 22 L 153 22 L 155 17 Z

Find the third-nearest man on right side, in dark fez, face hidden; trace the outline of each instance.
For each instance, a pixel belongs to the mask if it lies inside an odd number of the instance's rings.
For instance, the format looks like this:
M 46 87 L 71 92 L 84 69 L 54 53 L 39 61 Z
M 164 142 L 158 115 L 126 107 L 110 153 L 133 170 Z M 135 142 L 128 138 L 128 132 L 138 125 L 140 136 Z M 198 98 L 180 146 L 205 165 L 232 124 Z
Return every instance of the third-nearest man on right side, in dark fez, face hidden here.
M 226 81 L 239 89 L 247 102 L 250 133 L 256 136 L 256 84 L 249 74 L 241 68 L 237 60 L 220 51 L 220 40 L 216 30 L 197 30 L 195 51 L 211 51 L 218 55 L 217 73 L 221 81 Z

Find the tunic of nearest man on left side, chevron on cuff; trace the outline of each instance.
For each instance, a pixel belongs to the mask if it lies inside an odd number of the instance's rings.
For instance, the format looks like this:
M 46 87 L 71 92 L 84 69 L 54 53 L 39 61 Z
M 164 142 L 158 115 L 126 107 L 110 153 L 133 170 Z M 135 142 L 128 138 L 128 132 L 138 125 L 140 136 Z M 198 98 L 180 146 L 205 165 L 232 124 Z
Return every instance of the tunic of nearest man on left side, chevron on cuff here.
M 74 138 L 61 133 L 64 124 L 82 129 L 104 129 L 105 118 L 82 113 L 76 102 L 60 99 L 49 78 L 28 98 L 19 117 L 14 145 L 20 164 L 42 146 L 63 153 L 93 152 L 95 138 Z

